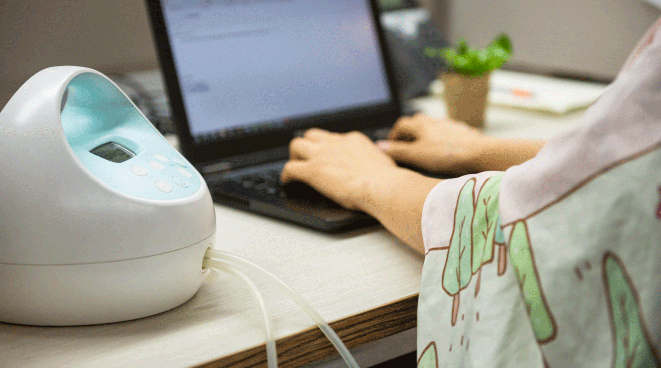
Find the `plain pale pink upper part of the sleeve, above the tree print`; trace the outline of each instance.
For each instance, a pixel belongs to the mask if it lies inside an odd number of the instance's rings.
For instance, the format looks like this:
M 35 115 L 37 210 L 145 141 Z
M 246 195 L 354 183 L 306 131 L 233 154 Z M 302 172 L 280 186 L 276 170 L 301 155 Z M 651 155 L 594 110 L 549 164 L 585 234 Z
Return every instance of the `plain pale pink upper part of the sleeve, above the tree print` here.
M 502 224 L 551 205 L 605 167 L 661 142 L 661 23 L 576 128 L 553 137 L 537 157 L 506 171 Z

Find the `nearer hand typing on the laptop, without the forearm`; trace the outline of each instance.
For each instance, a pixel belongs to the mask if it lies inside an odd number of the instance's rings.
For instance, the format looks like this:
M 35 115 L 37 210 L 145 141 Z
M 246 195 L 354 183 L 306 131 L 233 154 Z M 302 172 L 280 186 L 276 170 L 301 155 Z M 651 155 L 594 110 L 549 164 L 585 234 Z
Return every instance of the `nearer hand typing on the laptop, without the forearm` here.
M 364 134 L 312 128 L 292 140 L 282 183 L 302 181 L 343 207 L 366 210 L 370 182 L 396 170 L 395 161 Z

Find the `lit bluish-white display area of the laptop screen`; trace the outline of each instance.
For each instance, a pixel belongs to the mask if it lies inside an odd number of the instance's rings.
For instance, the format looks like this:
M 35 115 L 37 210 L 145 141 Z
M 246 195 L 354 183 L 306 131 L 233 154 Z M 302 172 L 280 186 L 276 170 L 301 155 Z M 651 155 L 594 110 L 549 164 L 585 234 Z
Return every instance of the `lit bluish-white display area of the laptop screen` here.
M 366 0 L 163 2 L 191 134 L 391 101 Z

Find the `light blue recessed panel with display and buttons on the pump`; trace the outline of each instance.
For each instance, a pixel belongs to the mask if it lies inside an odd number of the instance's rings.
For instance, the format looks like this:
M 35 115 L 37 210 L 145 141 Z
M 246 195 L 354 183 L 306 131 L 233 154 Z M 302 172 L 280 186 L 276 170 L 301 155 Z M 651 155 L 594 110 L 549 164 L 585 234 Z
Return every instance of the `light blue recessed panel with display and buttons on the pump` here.
M 76 158 L 116 191 L 167 200 L 200 189 L 192 165 L 101 75 L 81 73 L 69 81 L 60 121 Z

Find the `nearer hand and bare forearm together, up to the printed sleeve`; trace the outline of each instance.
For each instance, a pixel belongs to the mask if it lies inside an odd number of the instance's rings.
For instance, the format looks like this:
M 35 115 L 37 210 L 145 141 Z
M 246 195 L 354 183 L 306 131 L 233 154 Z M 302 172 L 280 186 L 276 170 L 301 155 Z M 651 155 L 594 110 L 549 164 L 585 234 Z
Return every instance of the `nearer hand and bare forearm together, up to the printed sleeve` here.
M 422 205 L 440 181 L 397 167 L 364 134 L 307 130 L 290 144 L 282 183 L 290 181 L 302 181 L 346 208 L 368 212 L 424 252 Z

